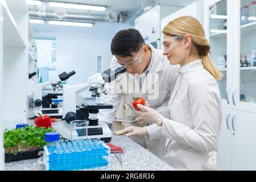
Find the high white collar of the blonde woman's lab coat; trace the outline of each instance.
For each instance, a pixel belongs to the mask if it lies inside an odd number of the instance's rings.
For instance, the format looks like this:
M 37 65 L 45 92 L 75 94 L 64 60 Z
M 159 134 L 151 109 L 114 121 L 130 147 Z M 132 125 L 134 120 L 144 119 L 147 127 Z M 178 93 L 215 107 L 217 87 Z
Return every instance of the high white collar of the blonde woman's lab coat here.
M 189 75 L 189 73 L 195 72 L 198 69 L 204 68 L 204 65 L 202 63 L 202 60 L 196 60 L 192 61 L 191 63 L 185 64 L 183 67 L 180 67 L 178 69 L 178 72 L 180 73 L 181 76 L 183 75 Z

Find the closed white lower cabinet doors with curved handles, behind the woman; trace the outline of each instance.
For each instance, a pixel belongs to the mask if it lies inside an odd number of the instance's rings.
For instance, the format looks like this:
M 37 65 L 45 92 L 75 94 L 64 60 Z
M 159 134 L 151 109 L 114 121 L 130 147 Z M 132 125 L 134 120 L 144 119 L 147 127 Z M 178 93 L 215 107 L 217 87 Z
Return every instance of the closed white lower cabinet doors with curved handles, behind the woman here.
M 256 170 L 256 113 L 223 108 L 220 170 Z

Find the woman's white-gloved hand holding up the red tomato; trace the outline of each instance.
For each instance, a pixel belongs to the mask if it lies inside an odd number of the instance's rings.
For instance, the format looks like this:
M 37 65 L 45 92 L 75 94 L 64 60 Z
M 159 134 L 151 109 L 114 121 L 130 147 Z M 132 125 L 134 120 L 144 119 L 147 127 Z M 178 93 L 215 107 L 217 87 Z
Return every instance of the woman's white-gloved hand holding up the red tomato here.
M 137 104 L 137 107 L 139 110 L 135 110 L 135 113 L 139 114 L 145 121 L 152 121 L 158 126 L 162 126 L 164 117 L 158 111 L 141 104 Z

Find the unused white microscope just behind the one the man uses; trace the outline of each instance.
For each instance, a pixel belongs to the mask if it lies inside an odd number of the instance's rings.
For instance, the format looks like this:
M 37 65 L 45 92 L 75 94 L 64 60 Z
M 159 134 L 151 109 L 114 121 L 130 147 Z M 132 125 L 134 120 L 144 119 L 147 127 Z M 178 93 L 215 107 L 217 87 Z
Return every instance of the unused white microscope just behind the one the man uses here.
M 75 71 L 70 73 L 63 72 L 60 75 L 52 78 L 51 81 L 46 81 L 35 85 L 34 116 L 38 116 L 38 113 L 42 113 L 48 114 L 50 117 L 62 119 L 63 108 L 58 107 L 58 103 L 55 101 L 60 101 L 57 100 L 57 98 L 59 96 L 63 96 L 64 86 L 61 84 L 61 81 L 65 81 L 75 74 Z M 43 91 L 46 91 L 48 87 L 51 93 L 43 94 Z

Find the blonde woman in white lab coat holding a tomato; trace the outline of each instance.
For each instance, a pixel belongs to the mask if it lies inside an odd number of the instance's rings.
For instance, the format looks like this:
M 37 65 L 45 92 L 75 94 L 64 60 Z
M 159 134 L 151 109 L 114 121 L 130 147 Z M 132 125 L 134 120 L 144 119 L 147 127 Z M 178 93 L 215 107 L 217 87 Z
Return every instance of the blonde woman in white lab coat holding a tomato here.
M 163 160 L 177 170 L 217 170 L 222 108 L 216 80 L 222 75 L 208 56 L 203 26 L 191 16 L 182 16 L 167 24 L 163 34 L 164 55 L 171 65 L 181 65 L 168 104 L 169 117 L 137 105 L 141 109 L 137 113 L 156 124 L 115 134 L 166 137 Z

